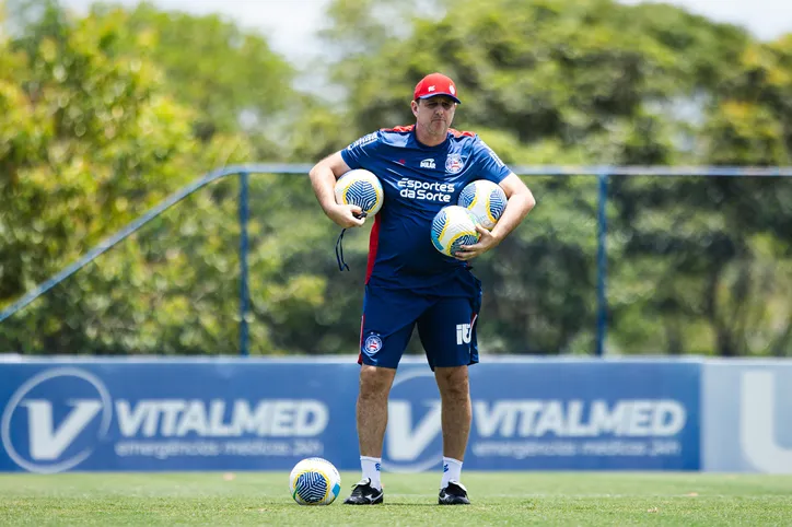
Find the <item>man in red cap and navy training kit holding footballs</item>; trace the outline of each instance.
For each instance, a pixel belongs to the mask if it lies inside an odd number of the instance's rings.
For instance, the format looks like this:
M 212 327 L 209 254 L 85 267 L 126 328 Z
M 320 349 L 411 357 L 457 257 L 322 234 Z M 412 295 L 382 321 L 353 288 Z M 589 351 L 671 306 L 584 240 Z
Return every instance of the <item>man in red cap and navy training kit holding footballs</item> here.
M 364 136 L 311 169 L 319 204 L 345 229 L 361 226 L 365 218 L 360 218 L 359 207 L 336 203 L 337 178 L 352 168 L 364 168 L 380 178 L 385 192 L 371 233 L 358 359 L 362 365 L 357 421 L 363 479 L 347 504 L 383 502 L 380 465 L 387 399 L 416 325 L 442 403 L 439 503 L 470 503 L 461 471 L 473 414 L 467 366 L 478 362 L 481 283 L 468 261 L 500 244 L 535 200 L 478 136 L 450 128 L 458 104 L 454 82 L 440 73 L 429 74 L 416 85 L 410 103 L 415 125 Z M 462 189 L 476 179 L 499 184 L 506 208 L 491 232 L 477 226 L 478 243 L 462 246 L 454 258 L 443 256 L 431 242 L 432 220 L 443 207 L 456 204 Z

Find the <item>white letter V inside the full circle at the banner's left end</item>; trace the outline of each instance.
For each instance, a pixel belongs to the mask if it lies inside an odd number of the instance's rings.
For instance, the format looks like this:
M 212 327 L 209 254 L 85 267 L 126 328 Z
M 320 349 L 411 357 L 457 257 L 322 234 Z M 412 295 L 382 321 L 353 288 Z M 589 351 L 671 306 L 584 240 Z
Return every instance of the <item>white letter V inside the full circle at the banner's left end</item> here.
M 95 399 L 70 400 L 69 406 L 74 409 L 55 430 L 53 405 L 48 400 L 28 399 L 21 405 L 27 407 L 31 457 L 37 460 L 57 459 L 102 410 L 102 402 Z

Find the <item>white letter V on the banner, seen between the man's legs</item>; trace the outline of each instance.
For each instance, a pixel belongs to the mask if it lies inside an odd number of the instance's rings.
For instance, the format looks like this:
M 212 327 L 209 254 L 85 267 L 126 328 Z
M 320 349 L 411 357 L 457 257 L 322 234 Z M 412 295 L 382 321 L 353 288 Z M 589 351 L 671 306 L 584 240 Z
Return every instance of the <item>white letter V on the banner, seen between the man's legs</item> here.
M 412 409 L 407 401 L 389 401 L 387 454 L 394 461 L 412 461 L 441 432 L 440 401 L 426 402 L 431 409 L 412 430 Z

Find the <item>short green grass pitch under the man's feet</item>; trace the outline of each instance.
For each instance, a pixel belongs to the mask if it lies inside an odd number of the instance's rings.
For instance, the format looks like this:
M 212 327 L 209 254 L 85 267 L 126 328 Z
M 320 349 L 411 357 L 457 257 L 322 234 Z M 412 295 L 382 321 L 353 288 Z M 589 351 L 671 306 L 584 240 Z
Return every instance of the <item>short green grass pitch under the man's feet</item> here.
M 0 476 L 0 525 L 792 525 L 792 477 L 473 472 L 473 505 L 436 505 L 440 475 L 385 473 L 385 504 L 303 507 L 288 473 Z

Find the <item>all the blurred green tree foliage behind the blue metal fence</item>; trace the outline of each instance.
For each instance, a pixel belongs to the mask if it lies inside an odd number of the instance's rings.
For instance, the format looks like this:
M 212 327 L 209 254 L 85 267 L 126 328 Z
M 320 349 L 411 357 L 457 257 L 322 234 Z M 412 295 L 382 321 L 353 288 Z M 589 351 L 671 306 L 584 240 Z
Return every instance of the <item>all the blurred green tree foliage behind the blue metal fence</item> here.
M 758 42 L 667 4 L 336 0 L 323 35 L 340 105 L 298 93 L 264 37 L 218 16 L 10 4 L 0 306 L 213 167 L 311 163 L 409 124 L 409 95 L 431 71 L 457 81 L 455 127 L 512 166 L 774 166 L 792 154 L 792 36 Z M 526 183 L 536 210 L 475 265 L 481 349 L 589 353 L 596 180 Z M 608 348 L 792 353 L 791 183 L 610 177 Z M 235 352 L 237 194 L 229 179 L 174 207 L 0 324 L 0 348 Z M 339 276 L 338 230 L 305 177 L 253 175 L 249 204 L 252 352 L 354 352 L 365 231 L 345 238 L 357 272 Z

